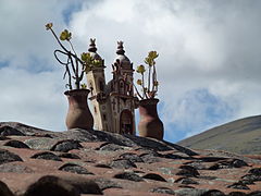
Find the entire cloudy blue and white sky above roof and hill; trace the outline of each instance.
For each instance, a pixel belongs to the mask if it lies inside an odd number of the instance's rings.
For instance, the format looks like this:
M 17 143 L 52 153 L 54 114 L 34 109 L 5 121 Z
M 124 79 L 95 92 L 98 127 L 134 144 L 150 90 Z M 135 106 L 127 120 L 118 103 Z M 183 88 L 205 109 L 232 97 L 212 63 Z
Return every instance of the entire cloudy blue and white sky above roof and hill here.
M 48 22 L 73 33 L 78 53 L 97 38 L 108 78 L 117 40 L 135 65 L 157 50 L 166 140 L 260 114 L 260 10 L 259 0 L 0 0 L 0 121 L 65 130 Z

